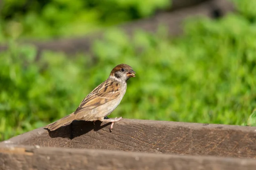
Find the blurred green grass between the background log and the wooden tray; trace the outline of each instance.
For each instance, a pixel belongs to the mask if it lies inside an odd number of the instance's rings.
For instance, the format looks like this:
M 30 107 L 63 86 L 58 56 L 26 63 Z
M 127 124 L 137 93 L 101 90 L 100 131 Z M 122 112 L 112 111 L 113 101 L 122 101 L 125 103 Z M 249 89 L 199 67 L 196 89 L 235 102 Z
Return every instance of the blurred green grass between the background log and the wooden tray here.
M 44 51 L 35 62 L 33 46 L 9 40 L 0 52 L 0 140 L 73 112 L 119 63 L 137 77 L 111 117 L 255 125 L 256 2 L 236 4 L 239 13 L 219 20 L 189 18 L 176 38 L 164 28 L 132 38 L 108 30 L 87 55 Z

